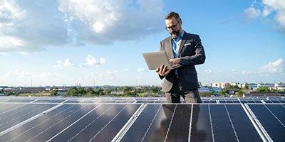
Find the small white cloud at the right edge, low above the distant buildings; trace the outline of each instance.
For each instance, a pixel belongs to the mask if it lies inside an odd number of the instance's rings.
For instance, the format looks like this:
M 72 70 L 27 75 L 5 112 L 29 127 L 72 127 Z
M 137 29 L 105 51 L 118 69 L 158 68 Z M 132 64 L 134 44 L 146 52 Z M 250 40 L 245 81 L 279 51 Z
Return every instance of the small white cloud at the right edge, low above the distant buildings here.
M 259 74 L 284 74 L 285 73 L 285 61 L 284 59 L 278 59 L 274 62 L 264 65 L 259 69 Z

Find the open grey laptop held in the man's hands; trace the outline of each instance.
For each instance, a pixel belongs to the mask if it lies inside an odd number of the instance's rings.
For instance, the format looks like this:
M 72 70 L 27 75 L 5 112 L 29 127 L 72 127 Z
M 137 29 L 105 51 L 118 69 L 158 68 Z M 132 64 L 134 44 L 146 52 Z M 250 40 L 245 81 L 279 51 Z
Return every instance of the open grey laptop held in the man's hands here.
M 147 62 L 147 67 L 150 70 L 155 70 L 161 65 L 166 65 L 168 69 L 174 69 L 180 67 L 180 65 L 172 66 L 165 51 L 154 52 L 154 53 L 142 53 L 145 62 Z

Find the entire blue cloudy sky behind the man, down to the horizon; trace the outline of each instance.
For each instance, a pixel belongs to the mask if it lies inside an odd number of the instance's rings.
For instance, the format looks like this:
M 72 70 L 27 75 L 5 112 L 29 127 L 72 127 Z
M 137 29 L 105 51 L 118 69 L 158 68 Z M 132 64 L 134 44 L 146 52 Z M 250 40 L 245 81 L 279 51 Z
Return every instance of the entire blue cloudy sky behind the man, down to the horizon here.
M 285 1 L 0 1 L 0 85 L 160 85 L 165 15 L 202 39 L 199 81 L 285 82 Z

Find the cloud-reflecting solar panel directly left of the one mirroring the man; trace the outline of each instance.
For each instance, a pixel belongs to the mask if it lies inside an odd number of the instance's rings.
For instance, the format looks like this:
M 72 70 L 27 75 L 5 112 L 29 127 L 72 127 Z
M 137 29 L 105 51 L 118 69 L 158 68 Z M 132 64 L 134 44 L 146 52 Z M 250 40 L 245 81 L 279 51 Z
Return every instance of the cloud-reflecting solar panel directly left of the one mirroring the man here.
M 0 141 L 110 141 L 140 107 L 138 104 L 64 104 Z

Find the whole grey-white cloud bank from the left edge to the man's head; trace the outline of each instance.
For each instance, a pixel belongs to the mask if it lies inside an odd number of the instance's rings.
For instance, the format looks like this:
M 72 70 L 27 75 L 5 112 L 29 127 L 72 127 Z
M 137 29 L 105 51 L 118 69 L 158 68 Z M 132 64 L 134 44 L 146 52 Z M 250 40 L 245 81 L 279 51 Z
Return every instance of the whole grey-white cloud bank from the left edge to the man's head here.
M 162 0 L 1 0 L 0 53 L 137 40 L 163 30 L 163 7 Z

